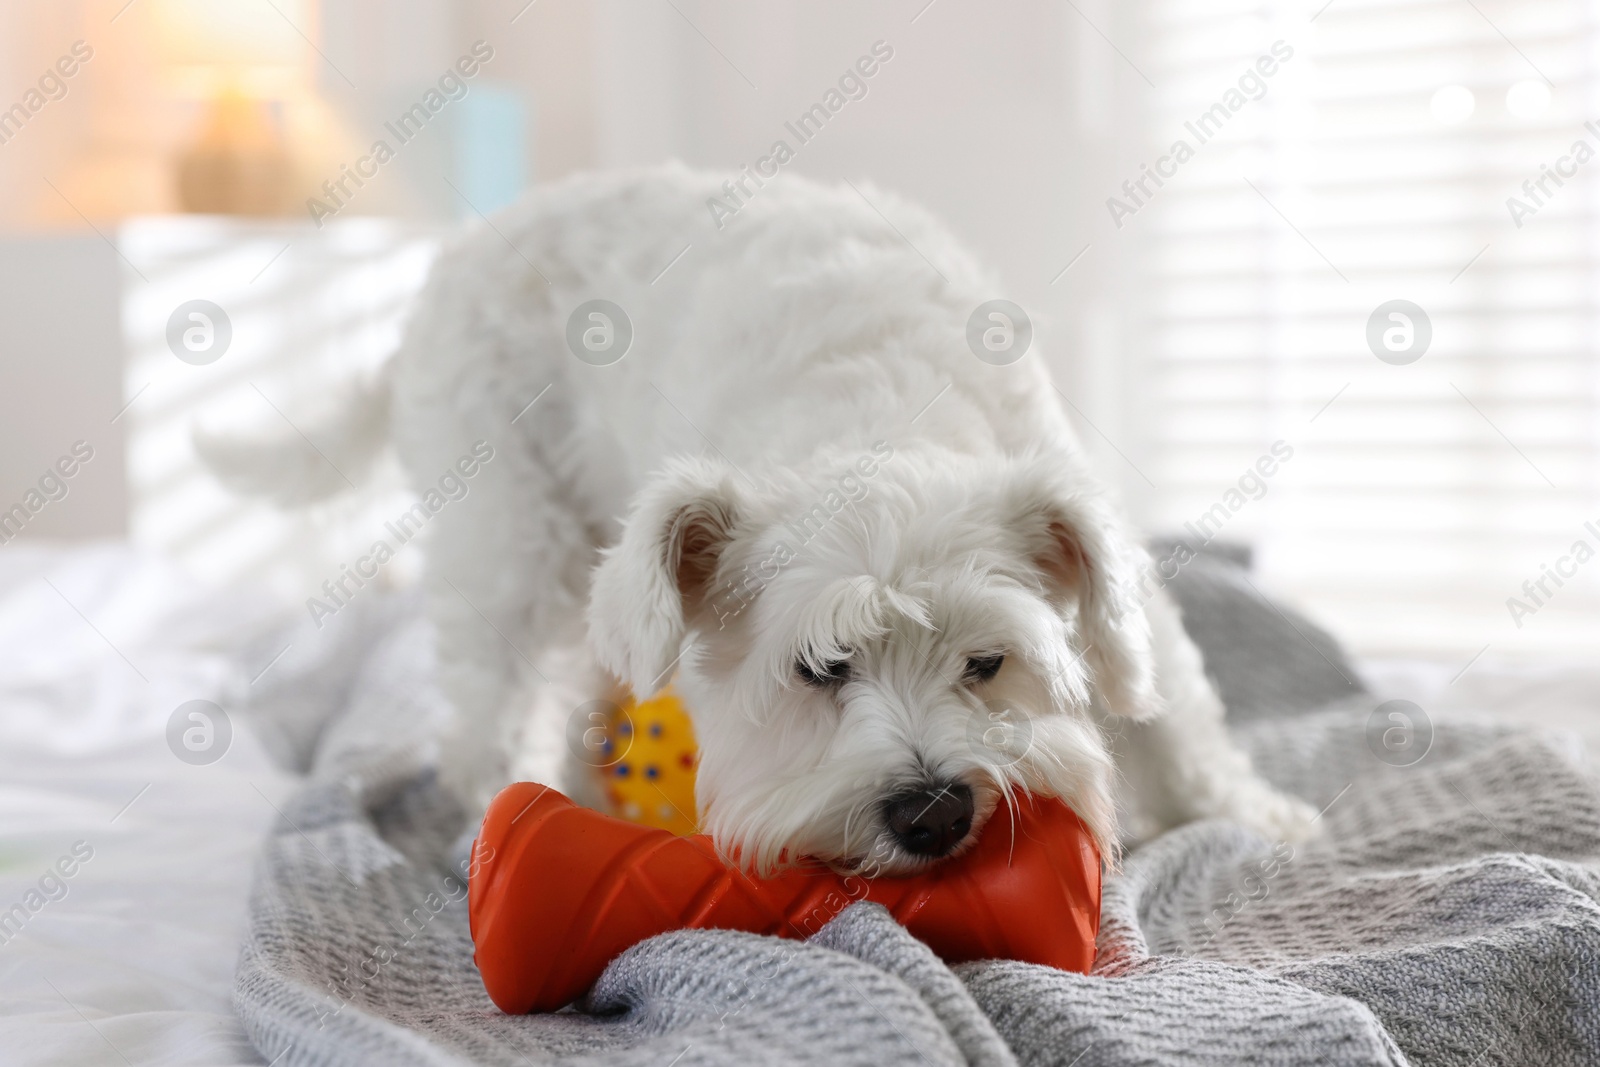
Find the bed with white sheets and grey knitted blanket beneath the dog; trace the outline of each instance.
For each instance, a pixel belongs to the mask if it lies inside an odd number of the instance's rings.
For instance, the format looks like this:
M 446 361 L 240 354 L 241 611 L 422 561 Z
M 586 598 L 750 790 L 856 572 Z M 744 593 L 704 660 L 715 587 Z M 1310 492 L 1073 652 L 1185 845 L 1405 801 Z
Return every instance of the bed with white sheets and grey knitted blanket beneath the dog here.
M 1206 609 L 1197 605 L 1192 595 L 1186 611 Z M 664 1064 L 674 1056 L 682 1064 L 1083 1067 L 1245 1059 L 1594 1062 L 1600 878 L 1586 875 L 1594 854 L 1582 853 L 1590 835 L 1600 840 L 1600 805 L 1592 803 L 1584 749 L 1600 718 L 1600 670 L 1472 664 L 1462 672 L 1461 664 L 1365 662 L 1357 672 L 1336 645 L 1314 646 L 1307 638 L 1314 627 L 1299 621 L 1306 633 L 1290 627 L 1291 635 L 1270 622 L 1282 617 L 1272 613 L 1261 608 L 1253 616 L 1277 633 L 1272 640 L 1285 641 L 1283 654 L 1269 657 L 1301 664 L 1290 673 L 1322 670 L 1309 665 L 1322 661 L 1355 681 L 1365 678 L 1376 694 L 1410 699 L 1426 709 L 1437 747 L 1421 771 L 1382 766 L 1381 776 L 1360 777 L 1374 784 L 1334 795 L 1328 785 L 1341 774 L 1328 765 L 1334 749 L 1294 739 L 1347 733 L 1350 721 L 1368 718 L 1378 697 L 1318 691 L 1307 697 L 1318 707 L 1298 709 L 1304 723 L 1283 729 L 1280 717 L 1238 688 L 1237 678 L 1262 670 L 1261 649 L 1221 649 L 1221 681 L 1226 693 L 1234 688 L 1230 713 L 1243 709 L 1235 721 L 1258 758 L 1262 745 L 1275 745 L 1266 753 L 1275 774 L 1330 792 L 1318 801 L 1328 801 L 1336 849 L 1349 848 L 1355 825 L 1338 819 L 1358 817 L 1363 846 L 1394 851 L 1381 862 L 1363 861 L 1368 881 L 1470 869 L 1470 877 L 1438 883 L 1458 897 L 1430 912 L 1435 926 L 1442 915 L 1486 907 L 1488 897 L 1474 894 L 1491 881 L 1523 902 L 1542 893 L 1544 912 L 1523 913 L 1522 926 L 1486 925 L 1520 934 L 1496 941 L 1491 929 L 1482 937 L 1466 920 L 1448 937 L 1435 928 L 1419 933 L 1414 921 L 1408 925 L 1408 909 L 1378 894 L 1379 910 L 1363 923 L 1363 936 L 1376 931 L 1392 944 L 1306 958 L 1304 945 L 1283 949 L 1272 933 L 1274 923 L 1307 921 L 1296 909 L 1315 894 L 1296 896 L 1293 880 L 1278 881 L 1237 917 L 1218 918 L 1214 902 L 1227 899 L 1224 881 L 1237 873 L 1235 861 L 1270 843 L 1208 825 L 1136 853 L 1107 885 L 1102 960 L 1091 979 L 1019 974 L 1014 968 L 1022 965 L 952 973 L 918 955 L 914 942 L 898 941 L 880 917 L 851 910 L 818 945 L 806 945 L 816 958 L 805 957 L 782 982 L 746 984 L 734 990 L 736 1000 L 694 976 L 755 966 L 766 949 L 750 942 L 762 939 L 675 934 L 621 958 L 590 1013 L 506 1019 L 480 987 L 472 989 L 458 910 L 440 912 L 414 944 L 403 945 L 405 963 L 374 968 L 371 981 L 339 977 L 352 973 L 352 963 L 360 973 L 355 926 L 314 929 L 341 909 L 368 909 L 373 921 L 387 921 L 382 909 L 402 913 L 414 902 L 406 894 L 437 880 L 464 845 L 459 813 L 443 809 L 430 789 L 429 739 L 446 712 L 427 685 L 427 632 L 414 600 L 374 598 L 370 608 L 341 616 L 342 629 L 323 643 L 285 653 L 294 621 L 266 600 L 202 590 L 160 560 L 120 545 L 8 545 L 0 553 L 0 1059 L 285 1067 Z M 1283 651 L 1291 641 L 1296 651 Z M 1338 689 L 1326 670 L 1320 677 Z M 214 761 L 186 761 L 170 742 L 173 715 L 190 701 L 214 701 L 230 712 L 232 737 Z M 1322 707 L 1341 701 L 1349 707 L 1338 715 Z M 1357 750 L 1339 758 L 1365 757 Z M 1437 789 L 1414 790 L 1432 766 L 1443 768 Z M 1498 819 L 1494 790 L 1525 789 L 1523 777 L 1504 768 L 1523 768 L 1525 777 L 1536 771 L 1546 784 L 1534 789 L 1558 782 L 1558 790 L 1541 793 L 1549 809 Z M 1509 777 L 1496 784 L 1496 773 Z M 1384 814 L 1382 805 L 1408 797 L 1454 805 L 1445 790 L 1453 782 L 1466 803 L 1434 813 L 1434 824 L 1418 822 L 1414 811 Z M 1474 805 L 1486 808 L 1480 821 L 1469 813 Z M 1398 833 L 1384 838 L 1387 845 L 1373 830 L 1386 817 Z M 1418 825 L 1453 827 L 1456 854 L 1418 853 L 1403 833 Z M 1501 840 L 1507 832 L 1526 840 Z M 1546 861 L 1536 854 L 1541 841 L 1570 854 Z M 62 873 L 67 869 L 70 875 Z M 1184 896 L 1171 891 L 1173 883 L 1210 888 Z M 1397 995 L 1378 1003 L 1350 963 L 1414 961 L 1442 945 L 1446 957 L 1470 963 L 1456 981 L 1470 984 L 1478 974 L 1485 989 L 1445 982 L 1427 990 L 1437 1017 L 1395 1014 L 1395 1005 L 1413 1001 Z M 1504 960 L 1478 966 L 1488 958 L 1472 955 L 1478 950 Z M 1251 973 L 1262 979 L 1254 982 Z M 1534 977 L 1507 982 L 1514 973 Z M 846 989 L 838 981 L 859 997 L 826 1011 L 814 1003 L 794 1006 L 797 990 L 826 993 L 827 982 Z M 1232 989 L 1234 981 L 1254 984 Z M 1341 992 L 1339 982 L 1349 989 Z M 1267 1014 L 1235 1011 L 1240 1003 L 1261 1005 Z M 1280 1027 L 1285 1019 L 1293 1025 Z M 1254 1045 L 1253 1033 L 1277 1033 L 1277 1043 Z

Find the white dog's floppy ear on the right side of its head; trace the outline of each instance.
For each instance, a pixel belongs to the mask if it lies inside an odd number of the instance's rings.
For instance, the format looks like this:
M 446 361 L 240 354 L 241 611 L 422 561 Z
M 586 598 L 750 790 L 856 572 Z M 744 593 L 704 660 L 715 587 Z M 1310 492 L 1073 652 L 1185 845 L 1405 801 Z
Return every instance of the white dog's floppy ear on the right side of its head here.
M 1056 461 L 1059 462 L 1059 461 Z M 1062 601 L 1077 601 L 1080 653 L 1106 710 L 1141 718 L 1160 710 L 1144 614 L 1144 552 L 1094 490 L 1032 464 L 1013 485 L 1013 515 L 1035 566 Z

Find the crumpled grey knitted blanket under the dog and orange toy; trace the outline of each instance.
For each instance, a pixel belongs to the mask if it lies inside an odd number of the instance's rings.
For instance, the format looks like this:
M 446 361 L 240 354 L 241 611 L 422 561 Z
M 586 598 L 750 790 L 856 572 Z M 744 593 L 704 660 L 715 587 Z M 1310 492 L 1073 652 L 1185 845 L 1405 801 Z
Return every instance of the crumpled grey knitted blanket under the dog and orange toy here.
M 352 605 L 253 707 L 307 781 L 256 872 L 243 1024 L 278 1067 L 1600 1062 L 1600 792 L 1574 757 L 1390 718 L 1219 560 L 1178 592 L 1258 765 L 1326 806 L 1315 841 L 1211 822 L 1133 853 L 1090 976 L 952 971 L 856 904 L 803 944 L 654 937 L 581 1011 L 526 1017 L 472 966 L 429 630 L 403 598 Z

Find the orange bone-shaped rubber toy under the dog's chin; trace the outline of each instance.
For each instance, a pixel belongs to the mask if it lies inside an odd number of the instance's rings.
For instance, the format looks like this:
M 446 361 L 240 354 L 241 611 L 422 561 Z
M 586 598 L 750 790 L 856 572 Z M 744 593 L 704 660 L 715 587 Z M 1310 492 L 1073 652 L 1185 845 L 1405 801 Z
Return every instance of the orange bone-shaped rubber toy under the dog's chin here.
M 1099 853 L 1058 800 L 1022 797 L 1014 824 L 997 813 L 968 853 L 912 878 L 819 865 L 754 878 L 709 837 L 634 825 L 536 782 L 501 790 L 472 851 L 474 958 L 509 1014 L 571 1003 L 619 952 L 669 929 L 810 937 L 859 899 L 947 963 L 1088 971 L 1099 928 Z

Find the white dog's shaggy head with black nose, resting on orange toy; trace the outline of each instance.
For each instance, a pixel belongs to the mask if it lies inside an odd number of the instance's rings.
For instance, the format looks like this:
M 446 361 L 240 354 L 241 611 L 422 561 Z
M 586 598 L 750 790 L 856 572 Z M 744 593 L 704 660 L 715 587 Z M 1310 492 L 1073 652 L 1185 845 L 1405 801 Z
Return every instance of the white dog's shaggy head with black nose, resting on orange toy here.
M 682 461 L 595 573 L 590 637 L 677 672 L 702 827 L 757 869 L 910 873 L 1018 790 L 1115 838 L 1098 712 L 1157 697 L 1139 550 L 1082 472 L 878 443 L 752 485 Z

